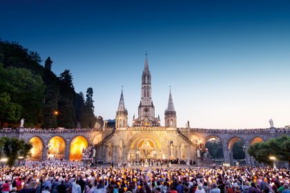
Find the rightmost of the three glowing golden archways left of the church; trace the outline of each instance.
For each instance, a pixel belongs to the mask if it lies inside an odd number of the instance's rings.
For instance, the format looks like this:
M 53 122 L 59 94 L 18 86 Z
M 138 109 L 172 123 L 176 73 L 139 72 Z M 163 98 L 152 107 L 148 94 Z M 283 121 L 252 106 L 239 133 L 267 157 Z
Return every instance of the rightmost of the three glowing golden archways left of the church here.
M 88 141 L 84 136 L 76 136 L 70 143 L 70 161 L 81 161 L 83 152 L 88 147 Z

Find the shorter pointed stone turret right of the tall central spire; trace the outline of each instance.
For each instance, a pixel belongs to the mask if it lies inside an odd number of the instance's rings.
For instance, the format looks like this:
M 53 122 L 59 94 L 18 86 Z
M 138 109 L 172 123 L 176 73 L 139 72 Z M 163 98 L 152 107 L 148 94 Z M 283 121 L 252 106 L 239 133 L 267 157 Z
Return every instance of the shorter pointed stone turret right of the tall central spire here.
M 177 116 L 173 105 L 173 99 L 171 96 L 171 89 L 169 91 L 168 106 L 164 112 L 165 116 L 165 127 L 166 128 L 176 128 L 177 127 Z

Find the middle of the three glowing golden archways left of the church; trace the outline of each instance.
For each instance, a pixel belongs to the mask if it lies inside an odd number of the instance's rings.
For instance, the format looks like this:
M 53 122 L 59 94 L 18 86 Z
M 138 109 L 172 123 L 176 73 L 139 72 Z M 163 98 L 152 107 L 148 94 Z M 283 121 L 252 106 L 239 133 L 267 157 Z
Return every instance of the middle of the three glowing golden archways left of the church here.
M 48 142 L 48 158 L 64 159 L 66 151 L 66 142 L 61 136 L 54 136 Z

